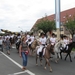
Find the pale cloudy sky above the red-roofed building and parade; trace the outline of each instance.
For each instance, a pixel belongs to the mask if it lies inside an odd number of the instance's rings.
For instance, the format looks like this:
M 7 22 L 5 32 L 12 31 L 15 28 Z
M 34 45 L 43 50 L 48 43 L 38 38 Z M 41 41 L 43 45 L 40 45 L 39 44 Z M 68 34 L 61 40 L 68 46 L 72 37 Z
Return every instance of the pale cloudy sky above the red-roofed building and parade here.
M 75 0 L 60 0 L 61 11 L 74 8 Z M 29 31 L 37 19 L 55 13 L 55 0 L 0 0 L 0 29 Z

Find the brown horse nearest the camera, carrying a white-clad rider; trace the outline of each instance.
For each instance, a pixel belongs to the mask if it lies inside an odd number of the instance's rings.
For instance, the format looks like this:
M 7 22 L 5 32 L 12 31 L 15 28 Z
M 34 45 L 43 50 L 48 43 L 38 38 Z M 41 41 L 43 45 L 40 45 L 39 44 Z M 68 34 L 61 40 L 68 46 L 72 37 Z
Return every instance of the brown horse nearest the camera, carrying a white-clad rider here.
M 49 59 L 50 59 L 50 57 L 51 57 L 51 53 L 53 52 L 54 47 L 53 47 L 51 44 L 47 44 L 47 46 L 44 47 L 43 50 L 44 50 L 44 49 L 45 49 L 45 54 L 44 54 L 43 57 L 44 57 L 44 59 L 45 59 L 45 69 L 46 69 L 46 65 L 48 64 L 49 69 L 50 69 L 50 72 L 52 72 L 52 68 L 51 68 L 51 66 L 50 66 Z M 42 52 L 43 52 L 43 50 L 42 50 Z M 36 65 L 38 65 L 38 64 L 37 64 L 38 58 L 40 59 L 40 55 L 37 55 L 37 53 L 36 53 Z M 42 60 L 41 60 L 41 59 L 40 59 L 40 63 L 41 63 L 41 65 L 42 65 Z

